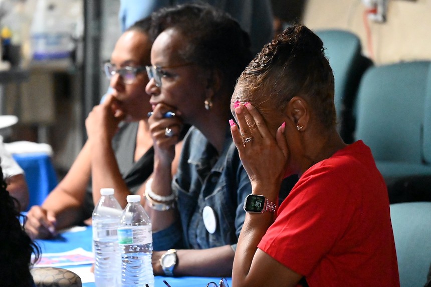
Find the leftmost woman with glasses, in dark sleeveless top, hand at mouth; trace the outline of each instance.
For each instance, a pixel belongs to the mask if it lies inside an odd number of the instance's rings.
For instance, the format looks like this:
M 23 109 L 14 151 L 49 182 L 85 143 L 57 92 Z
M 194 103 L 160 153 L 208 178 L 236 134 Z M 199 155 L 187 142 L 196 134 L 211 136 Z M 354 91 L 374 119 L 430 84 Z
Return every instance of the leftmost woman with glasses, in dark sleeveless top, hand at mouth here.
M 152 173 L 154 157 L 147 122 L 151 106 L 145 93 L 150 24 L 149 18 L 138 21 L 118 39 L 104 66 L 112 92 L 88 115 L 88 140 L 67 175 L 42 206 L 30 209 L 26 227 L 33 237 L 51 237 L 91 218 L 101 188 L 114 188 L 123 207 L 128 194 L 142 194 L 140 187 Z

